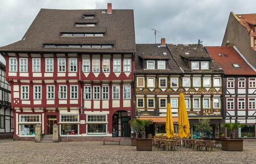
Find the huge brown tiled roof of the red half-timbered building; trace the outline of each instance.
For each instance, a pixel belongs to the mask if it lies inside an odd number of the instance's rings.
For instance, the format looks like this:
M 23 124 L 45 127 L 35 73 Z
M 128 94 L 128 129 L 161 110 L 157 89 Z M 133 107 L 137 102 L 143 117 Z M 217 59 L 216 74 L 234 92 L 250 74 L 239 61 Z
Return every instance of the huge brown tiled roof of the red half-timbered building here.
M 63 10 L 41 9 L 23 38 L 0 47 L 0 52 L 135 52 L 133 10 L 113 9 Z M 93 14 L 94 19 L 83 19 Z M 97 22 L 96 27 L 75 27 L 75 22 Z M 61 32 L 105 32 L 104 37 L 61 37 Z M 109 45 L 110 49 L 44 48 L 44 44 Z

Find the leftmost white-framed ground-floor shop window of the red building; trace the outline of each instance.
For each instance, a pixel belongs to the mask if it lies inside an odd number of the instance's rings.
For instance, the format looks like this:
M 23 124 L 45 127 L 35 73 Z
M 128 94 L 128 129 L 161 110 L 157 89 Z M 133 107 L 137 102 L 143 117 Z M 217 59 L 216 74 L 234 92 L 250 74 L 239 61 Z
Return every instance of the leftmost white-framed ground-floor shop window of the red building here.
M 19 115 L 19 136 L 35 136 L 35 126 L 40 123 L 40 115 Z

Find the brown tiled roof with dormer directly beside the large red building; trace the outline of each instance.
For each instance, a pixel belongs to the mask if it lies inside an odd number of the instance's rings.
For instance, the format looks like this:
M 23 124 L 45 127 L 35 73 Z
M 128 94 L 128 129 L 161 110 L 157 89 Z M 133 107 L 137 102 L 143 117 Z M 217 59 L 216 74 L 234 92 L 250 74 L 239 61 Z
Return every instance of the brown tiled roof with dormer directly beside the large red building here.
M 135 72 L 142 74 L 180 74 L 182 73 L 177 63 L 173 60 L 166 46 L 158 47 L 160 44 L 136 44 Z M 163 54 L 166 53 L 166 55 Z M 147 70 L 143 69 L 143 60 L 168 60 L 169 69 Z

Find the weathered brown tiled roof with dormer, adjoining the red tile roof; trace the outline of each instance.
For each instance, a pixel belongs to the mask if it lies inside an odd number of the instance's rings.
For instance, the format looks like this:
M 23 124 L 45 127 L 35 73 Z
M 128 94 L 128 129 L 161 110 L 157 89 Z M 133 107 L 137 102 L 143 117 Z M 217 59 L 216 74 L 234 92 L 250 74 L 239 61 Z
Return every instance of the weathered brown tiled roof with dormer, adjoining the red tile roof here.
M 167 44 L 168 49 L 171 52 L 171 56 L 177 62 L 178 67 L 180 67 L 185 73 L 222 73 L 223 71 L 219 69 L 217 63 L 211 59 L 203 45 L 192 44 L 192 45 L 172 45 Z M 188 52 L 188 54 L 185 54 Z M 210 70 L 191 70 L 187 67 L 186 60 L 208 60 L 210 61 Z

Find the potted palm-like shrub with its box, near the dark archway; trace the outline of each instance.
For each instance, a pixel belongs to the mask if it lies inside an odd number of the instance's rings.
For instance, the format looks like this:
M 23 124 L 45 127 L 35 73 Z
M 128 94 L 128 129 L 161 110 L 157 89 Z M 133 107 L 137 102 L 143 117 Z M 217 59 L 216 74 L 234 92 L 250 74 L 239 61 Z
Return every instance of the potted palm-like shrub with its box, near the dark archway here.
M 137 150 L 152 150 L 152 139 L 146 139 L 145 127 L 152 123 L 151 120 L 131 119 L 130 125 L 136 134 L 136 139 L 132 139 L 132 146 L 136 146 Z M 141 138 L 139 139 L 139 134 Z M 136 143 L 134 142 L 136 141 Z M 136 144 L 136 145 L 135 145 Z

